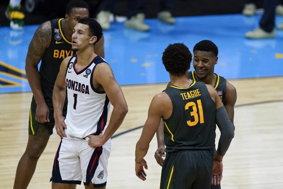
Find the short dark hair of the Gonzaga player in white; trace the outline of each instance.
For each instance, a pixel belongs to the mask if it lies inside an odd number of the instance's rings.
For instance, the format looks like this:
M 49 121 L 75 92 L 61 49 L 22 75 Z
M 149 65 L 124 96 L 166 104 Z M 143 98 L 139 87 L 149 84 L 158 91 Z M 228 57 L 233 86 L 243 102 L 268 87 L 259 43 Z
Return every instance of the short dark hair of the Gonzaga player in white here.
M 93 45 L 95 45 L 102 37 L 102 28 L 101 25 L 93 18 L 85 17 L 79 19 L 78 23 L 88 25 L 88 36 L 96 36 L 97 40 Z

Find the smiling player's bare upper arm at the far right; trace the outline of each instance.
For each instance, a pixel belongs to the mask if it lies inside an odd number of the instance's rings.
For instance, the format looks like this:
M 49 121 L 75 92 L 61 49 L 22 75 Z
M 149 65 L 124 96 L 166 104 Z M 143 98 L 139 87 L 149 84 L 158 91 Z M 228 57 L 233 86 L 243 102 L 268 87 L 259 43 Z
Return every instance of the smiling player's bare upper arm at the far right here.
M 229 119 L 233 123 L 233 128 L 235 130 L 234 126 L 234 106 L 237 100 L 237 92 L 236 88 L 227 82 L 226 84 L 226 101 L 224 103 L 225 109 L 228 113 Z

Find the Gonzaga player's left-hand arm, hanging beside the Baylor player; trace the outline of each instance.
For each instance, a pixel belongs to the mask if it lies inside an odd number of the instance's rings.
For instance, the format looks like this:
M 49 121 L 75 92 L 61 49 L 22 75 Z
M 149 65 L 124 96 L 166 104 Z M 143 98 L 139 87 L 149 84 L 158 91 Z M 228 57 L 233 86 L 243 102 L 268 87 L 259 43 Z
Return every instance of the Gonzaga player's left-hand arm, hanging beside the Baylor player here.
M 63 106 L 66 97 L 66 70 L 68 62 L 70 61 L 71 56 L 66 57 L 61 65 L 60 71 L 57 75 L 57 79 L 54 84 L 53 94 L 52 94 L 52 101 L 54 107 L 54 119 L 55 119 L 55 128 L 56 132 L 60 137 L 67 137 L 64 128 L 67 128 L 63 117 Z

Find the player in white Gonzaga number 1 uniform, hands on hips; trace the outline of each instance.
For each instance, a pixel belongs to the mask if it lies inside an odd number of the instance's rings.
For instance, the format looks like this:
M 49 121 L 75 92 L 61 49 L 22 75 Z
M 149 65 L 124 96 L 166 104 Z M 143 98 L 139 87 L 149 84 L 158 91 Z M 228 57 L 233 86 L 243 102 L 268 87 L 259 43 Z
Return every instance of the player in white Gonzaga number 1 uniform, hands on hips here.
M 60 66 L 53 90 L 55 128 L 62 137 L 52 170 L 52 188 L 105 188 L 110 137 L 124 120 L 128 107 L 111 67 L 93 52 L 102 28 L 92 18 L 82 18 L 72 35 L 74 56 Z M 67 88 L 66 118 L 62 108 Z M 106 121 L 113 105 L 110 122 Z M 64 130 L 65 128 L 65 130 Z

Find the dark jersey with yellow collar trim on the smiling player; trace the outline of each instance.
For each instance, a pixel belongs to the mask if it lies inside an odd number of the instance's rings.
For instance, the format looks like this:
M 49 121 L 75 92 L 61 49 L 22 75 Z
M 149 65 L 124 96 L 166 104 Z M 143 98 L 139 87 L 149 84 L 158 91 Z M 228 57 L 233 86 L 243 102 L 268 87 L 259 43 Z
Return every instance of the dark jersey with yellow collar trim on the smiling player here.
M 220 100 L 224 104 L 226 100 L 226 79 L 224 77 L 219 76 L 218 74 L 215 75 L 216 75 L 216 82 L 215 82 L 215 86 L 213 87 L 214 89 L 216 89 L 220 97 Z M 188 77 L 190 81 L 196 81 L 195 71 L 189 71 Z

